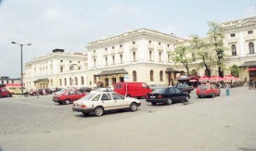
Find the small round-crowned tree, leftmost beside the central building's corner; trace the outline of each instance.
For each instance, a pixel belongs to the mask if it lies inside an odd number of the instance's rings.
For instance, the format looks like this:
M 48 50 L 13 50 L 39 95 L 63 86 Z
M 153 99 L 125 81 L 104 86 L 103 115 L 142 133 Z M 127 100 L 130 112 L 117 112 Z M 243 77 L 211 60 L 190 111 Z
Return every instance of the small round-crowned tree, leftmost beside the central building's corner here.
M 186 74 L 189 74 L 188 65 L 192 63 L 193 58 L 189 48 L 185 45 L 177 46 L 172 54 L 174 64 L 182 64 L 186 68 Z

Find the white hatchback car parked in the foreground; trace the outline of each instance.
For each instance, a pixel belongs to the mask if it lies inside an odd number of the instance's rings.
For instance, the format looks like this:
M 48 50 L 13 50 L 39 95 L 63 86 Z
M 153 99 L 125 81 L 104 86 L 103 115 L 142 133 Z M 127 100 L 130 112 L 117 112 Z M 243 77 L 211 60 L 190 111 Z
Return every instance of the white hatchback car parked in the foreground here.
M 135 98 L 124 97 L 115 92 L 91 92 L 81 99 L 73 102 L 73 111 L 84 115 L 94 113 L 96 117 L 102 116 L 106 110 L 129 108 L 132 112 L 137 110 L 141 102 Z

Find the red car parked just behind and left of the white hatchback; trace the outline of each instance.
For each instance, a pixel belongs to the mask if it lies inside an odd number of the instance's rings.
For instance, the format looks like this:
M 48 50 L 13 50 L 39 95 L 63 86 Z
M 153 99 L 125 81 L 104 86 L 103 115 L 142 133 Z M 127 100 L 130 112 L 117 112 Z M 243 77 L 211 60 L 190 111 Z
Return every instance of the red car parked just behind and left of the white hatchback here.
M 55 94 L 53 101 L 59 103 L 60 105 L 69 105 L 71 102 L 82 98 L 84 95 L 85 93 L 80 91 L 64 91 L 63 93 Z

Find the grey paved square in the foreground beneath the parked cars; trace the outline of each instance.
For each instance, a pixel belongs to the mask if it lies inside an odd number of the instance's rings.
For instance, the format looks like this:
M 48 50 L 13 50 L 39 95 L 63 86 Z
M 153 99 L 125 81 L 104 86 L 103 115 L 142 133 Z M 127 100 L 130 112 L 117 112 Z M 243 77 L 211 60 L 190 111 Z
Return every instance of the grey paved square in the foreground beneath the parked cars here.
M 256 150 L 256 90 L 197 98 L 183 105 L 83 116 L 52 95 L 0 99 L 2 150 Z

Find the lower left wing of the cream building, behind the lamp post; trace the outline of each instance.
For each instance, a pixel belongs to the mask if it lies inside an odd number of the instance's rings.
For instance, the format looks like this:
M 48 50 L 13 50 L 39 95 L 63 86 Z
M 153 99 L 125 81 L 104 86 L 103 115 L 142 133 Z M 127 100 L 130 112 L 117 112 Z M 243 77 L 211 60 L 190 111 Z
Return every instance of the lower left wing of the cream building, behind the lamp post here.
M 85 54 L 57 51 L 26 63 L 23 79 L 28 89 L 83 87 L 87 83 L 86 71 Z

